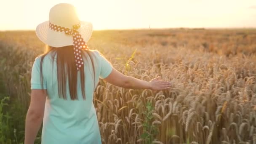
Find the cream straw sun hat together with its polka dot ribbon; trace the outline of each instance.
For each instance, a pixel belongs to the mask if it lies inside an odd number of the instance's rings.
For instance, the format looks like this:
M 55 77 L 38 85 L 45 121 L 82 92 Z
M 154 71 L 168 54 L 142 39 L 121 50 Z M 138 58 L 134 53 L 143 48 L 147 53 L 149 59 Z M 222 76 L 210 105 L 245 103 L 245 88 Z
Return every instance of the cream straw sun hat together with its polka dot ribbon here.
M 86 43 L 92 34 L 92 24 L 80 21 L 73 5 L 54 5 L 49 13 L 49 21 L 39 24 L 36 34 L 43 43 L 52 47 L 74 45 L 77 70 L 83 68 L 81 49 L 89 49 Z

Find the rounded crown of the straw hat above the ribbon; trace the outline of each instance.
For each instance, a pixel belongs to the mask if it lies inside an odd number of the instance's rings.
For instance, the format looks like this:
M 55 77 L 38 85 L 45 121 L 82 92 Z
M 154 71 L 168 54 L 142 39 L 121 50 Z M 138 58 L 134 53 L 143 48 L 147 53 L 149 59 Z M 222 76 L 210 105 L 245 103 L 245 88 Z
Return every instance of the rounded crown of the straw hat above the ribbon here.
M 54 5 L 49 13 L 49 21 L 52 24 L 69 29 L 80 22 L 75 6 L 67 3 Z

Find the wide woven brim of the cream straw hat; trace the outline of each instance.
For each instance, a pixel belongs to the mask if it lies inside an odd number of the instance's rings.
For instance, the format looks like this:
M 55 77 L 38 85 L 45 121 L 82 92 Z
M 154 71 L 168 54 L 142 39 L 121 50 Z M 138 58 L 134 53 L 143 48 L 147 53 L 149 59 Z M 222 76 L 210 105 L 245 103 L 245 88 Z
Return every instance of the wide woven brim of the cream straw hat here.
M 87 43 L 91 38 L 93 32 L 93 26 L 90 22 L 80 21 L 80 28 L 77 31 L 82 36 L 83 40 Z M 49 28 L 49 21 L 45 21 L 39 24 L 36 28 L 37 37 L 45 44 L 52 47 L 63 47 L 67 45 L 73 45 L 72 35 L 67 35 L 65 32 L 53 31 Z

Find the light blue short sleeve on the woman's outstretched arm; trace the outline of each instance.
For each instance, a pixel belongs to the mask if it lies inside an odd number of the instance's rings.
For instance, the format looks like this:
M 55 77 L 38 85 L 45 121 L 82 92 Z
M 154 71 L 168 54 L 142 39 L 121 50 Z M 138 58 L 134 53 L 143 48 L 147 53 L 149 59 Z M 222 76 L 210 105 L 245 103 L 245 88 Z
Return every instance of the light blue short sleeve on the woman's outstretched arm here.
M 110 62 L 104 58 L 104 56 L 102 56 L 101 54 L 99 54 L 99 59 L 100 59 L 100 63 L 101 63 L 101 71 L 100 71 L 100 78 L 104 79 L 107 76 L 109 76 L 109 74 L 112 72 L 112 65 L 110 64 Z

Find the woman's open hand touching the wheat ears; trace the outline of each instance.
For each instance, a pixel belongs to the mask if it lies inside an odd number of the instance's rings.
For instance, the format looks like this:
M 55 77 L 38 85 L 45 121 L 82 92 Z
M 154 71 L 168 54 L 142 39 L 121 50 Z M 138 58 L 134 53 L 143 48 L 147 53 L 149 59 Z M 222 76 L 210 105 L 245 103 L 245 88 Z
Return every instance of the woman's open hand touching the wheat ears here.
M 150 84 L 150 89 L 151 90 L 156 90 L 156 91 L 166 90 L 168 88 L 171 88 L 171 83 L 161 80 L 160 76 L 151 80 L 149 82 L 149 84 Z

